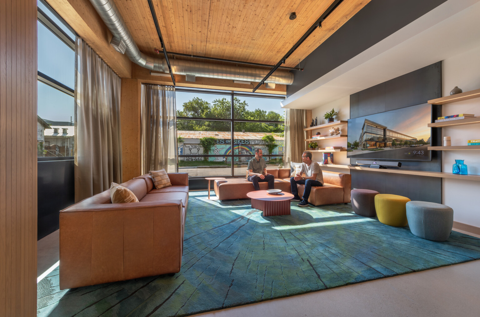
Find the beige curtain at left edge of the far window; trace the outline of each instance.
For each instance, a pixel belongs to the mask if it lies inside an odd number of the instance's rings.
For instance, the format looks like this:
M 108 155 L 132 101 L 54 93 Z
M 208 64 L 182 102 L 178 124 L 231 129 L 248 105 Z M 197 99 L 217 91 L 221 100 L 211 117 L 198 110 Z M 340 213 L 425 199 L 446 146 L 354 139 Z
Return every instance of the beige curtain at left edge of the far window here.
M 142 85 L 142 171 L 177 171 L 175 88 Z

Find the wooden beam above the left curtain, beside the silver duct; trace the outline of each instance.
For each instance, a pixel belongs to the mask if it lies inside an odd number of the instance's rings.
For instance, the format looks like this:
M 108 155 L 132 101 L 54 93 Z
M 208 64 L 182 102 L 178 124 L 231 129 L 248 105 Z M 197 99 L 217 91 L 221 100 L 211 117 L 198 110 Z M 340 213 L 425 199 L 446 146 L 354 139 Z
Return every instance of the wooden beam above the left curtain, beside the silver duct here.
M 112 34 L 88 0 L 46 0 L 63 20 L 120 77 L 132 77 L 132 63 L 111 45 Z M 128 1 L 131 2 L 131 1 Z M 140 1 L 147 3 L 147 1 Z M 148 6 L 148 4 L 147 4 Z M 141 20 L 141 19 L 140 19 Z

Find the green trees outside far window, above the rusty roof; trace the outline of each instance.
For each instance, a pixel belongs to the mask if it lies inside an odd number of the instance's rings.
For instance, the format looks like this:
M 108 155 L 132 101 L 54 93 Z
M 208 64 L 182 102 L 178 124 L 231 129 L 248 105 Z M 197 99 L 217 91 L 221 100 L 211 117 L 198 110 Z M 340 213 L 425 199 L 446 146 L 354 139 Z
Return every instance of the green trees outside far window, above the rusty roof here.
M 245 100 L 237 97 L 233 98 L 233 109 L 235 119 L 246 120 L 263 120 L 263 121 L 284 121 L 284 117 L 275 111 L 255 109 L 250 111 L 247 109 L 248 104 Z M 227 98 L 218 98 L 210 104 L 201 98 L 193 98 L 183 103 L 183 110 L 177 110 L 177 117 L 189 118 L 231 118 L 231 102 Z M 177 121 L 177 130 L 180 131 L 230 131 L 230 122 L 218 121 Z M 256 123 L 256 122 L 236 122 L 234 131 L 240 132 L 260 132 L 260 133 L 284 133 L 284 124 L 279 123 Z

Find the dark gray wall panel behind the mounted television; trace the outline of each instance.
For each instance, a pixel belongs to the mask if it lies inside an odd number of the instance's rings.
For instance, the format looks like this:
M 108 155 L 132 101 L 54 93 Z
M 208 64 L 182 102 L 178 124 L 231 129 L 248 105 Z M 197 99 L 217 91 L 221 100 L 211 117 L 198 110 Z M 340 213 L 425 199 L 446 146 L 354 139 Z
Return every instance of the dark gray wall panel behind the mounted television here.
M 350 118 L 356 118 L 426 103 L 442 97 L 442 62 L 396 77 L 350 95 Z M 439 105 L 432 106 L 432 119 L 441 116 Z M 414 120 L 414 118 L 412 118 Z M 440 146 L 440 128 L 432 128 L 432 146 Z M 432 151 L 432 161 L 400 161 L 402 170 L 441 171 L 442 152 Z M 351 158 L 355 163 L 357 158 Z M 351 170 L 352 188 L 376 190 L 381 194 L 395 194 L 411 200 L 442 203 L 442 179 L 417 175 Z

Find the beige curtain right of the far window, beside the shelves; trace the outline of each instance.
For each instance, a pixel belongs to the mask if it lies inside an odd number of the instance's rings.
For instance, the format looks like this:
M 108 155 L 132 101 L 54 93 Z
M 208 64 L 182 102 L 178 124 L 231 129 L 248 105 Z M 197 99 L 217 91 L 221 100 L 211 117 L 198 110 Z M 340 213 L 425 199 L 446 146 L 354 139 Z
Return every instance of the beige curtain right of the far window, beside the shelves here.
M 301 154 L 305 151 L 307 111 L 302 109 L 285 110 L 285 140 L 283 160 L 285 167 L 290 167 L 290 162 L 301 162 Z

